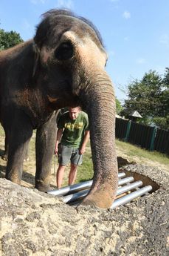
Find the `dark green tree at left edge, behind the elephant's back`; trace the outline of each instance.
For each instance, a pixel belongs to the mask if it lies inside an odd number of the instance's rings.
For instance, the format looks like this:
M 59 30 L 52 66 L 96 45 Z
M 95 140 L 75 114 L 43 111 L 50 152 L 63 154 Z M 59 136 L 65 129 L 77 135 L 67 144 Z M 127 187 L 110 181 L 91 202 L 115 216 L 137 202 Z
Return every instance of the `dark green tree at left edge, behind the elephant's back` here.
M 19 33 L 16 33 L 15 31 L 5 32 L 3 29 L 0 29 L 0 50 L 13 47 L 20 42 L 24 41 L 21 39 Z

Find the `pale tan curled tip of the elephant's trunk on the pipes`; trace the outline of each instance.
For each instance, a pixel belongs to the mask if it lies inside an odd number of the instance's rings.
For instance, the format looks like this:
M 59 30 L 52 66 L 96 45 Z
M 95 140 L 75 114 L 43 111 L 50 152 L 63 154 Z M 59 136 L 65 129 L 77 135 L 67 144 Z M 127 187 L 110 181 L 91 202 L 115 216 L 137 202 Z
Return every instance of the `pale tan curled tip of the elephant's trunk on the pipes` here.
M 82 201 L 82 206 L 95 206 L 100 209 L 109 209 L 112 206 L 114 197 L 106 191 L 94 191 Z

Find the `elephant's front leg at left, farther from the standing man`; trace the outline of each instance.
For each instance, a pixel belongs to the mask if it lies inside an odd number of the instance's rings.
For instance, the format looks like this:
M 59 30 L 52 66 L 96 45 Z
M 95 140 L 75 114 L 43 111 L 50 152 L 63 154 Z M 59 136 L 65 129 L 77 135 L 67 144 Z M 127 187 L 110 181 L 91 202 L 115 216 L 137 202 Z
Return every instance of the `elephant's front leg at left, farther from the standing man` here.
M 23 111 L 15 110 L 10 125 L 6 178 L 20 185 L 24 155 L 32 136 L 32 124 Z

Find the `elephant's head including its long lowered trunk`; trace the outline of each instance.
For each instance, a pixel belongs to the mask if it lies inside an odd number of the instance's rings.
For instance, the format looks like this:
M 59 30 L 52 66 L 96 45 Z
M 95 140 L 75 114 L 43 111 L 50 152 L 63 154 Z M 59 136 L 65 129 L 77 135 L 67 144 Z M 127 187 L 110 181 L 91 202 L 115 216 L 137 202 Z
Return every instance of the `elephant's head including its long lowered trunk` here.
M 115 101 L 106 73 L 106 50 L 100 33 L 86 19 L 64 10 L 44 14 L 34 38 L 36 70 L 50 108 L 77 99 L 89 115 L 94 182 L 83 204 L 111 206 L 117 191 L 114 142 Z

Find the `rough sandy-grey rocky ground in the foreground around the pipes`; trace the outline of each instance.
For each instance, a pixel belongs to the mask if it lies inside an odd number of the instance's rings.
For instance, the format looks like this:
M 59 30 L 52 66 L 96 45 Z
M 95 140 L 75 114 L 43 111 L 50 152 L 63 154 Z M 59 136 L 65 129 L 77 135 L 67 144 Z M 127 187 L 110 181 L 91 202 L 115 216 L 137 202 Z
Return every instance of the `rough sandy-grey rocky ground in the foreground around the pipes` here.
M 0 179 L 0 255 L 169 255 L 169 174 L 143 165 L 121 170 L 152 181 L 154 192 L 106 211 L 75 209 L 52 195 Z

